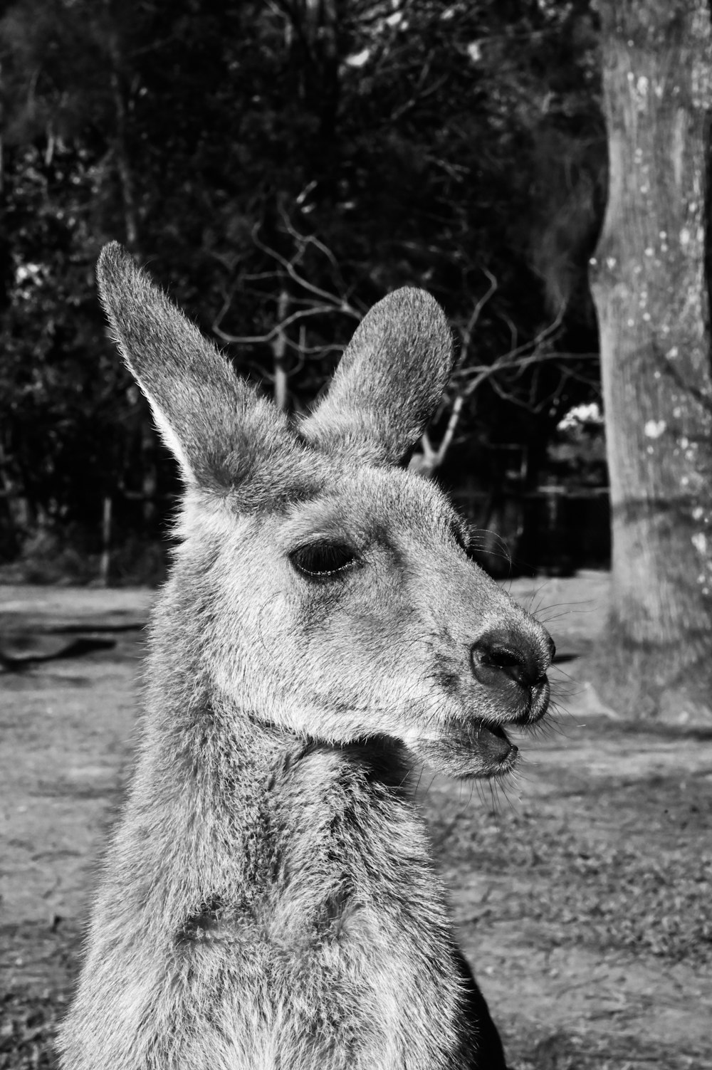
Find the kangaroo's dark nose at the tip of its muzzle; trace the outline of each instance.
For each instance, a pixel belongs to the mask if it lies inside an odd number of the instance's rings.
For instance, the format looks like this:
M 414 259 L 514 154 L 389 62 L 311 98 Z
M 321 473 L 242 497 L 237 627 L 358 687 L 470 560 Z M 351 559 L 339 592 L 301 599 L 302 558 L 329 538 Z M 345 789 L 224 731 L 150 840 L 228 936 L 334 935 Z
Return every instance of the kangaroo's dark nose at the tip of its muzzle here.
M 472 644 L 472 673 L 485 687 L 501 684 L 503 677 L 522 688 L 534 687 L 543 681 L 555 649 L 546 632 L 536 641 L 519 632 L 494 628 Z

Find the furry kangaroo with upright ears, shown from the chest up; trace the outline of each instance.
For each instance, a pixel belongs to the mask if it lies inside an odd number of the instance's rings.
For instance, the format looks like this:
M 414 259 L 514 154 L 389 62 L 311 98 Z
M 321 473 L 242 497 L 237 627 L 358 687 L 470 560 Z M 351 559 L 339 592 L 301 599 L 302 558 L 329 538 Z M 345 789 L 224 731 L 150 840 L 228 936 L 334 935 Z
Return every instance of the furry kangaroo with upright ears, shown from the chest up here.
M 409 472 L 452 366 L 380 301 L 297 425 L 116 243 L 99 286 L 185 485 L 64 1070 L 503 1070 L 413 768 L 500 777 L 552 643 Z

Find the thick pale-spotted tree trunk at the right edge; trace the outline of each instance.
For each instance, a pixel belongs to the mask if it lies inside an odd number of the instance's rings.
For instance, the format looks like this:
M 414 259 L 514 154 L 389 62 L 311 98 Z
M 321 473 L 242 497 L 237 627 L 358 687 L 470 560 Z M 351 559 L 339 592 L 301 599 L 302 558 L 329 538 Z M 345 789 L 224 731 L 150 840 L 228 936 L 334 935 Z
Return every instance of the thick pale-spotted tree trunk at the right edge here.
M 712 717 L 706 0 L 600 0 L 609 189 L 592 261 L 612 517 L 602 658 L 621 713 Z M 612 692 L 612 693 L 611 693 Z

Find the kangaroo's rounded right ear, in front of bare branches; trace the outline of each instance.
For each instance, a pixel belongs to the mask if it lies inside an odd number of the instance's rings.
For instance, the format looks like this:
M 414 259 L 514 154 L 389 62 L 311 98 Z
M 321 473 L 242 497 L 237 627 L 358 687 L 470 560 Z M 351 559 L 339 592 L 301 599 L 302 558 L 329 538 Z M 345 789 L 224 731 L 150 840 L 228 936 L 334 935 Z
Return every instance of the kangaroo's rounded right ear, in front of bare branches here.
M 425 430 L 452 366 L 452 334 L 435 297 L 396 290 L 361 321 L 301 432 L 320 449 L 396 464 Z

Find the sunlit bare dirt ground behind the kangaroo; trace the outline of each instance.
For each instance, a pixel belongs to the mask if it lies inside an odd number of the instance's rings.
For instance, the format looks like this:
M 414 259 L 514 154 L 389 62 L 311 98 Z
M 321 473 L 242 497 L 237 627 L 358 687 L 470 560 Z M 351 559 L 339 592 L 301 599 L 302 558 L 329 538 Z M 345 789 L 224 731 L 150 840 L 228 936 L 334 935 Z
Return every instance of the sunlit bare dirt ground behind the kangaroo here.
M 602 706 L 586 655 L 607 590 L 512 584 L 564 658 L 550 728 L 498 794 L 425 771 L 423 805 L 514 1070 L 709 1070 L 712 731 Z M 55 1066 L 152 599 L 0 586 L 0 1070 Z

